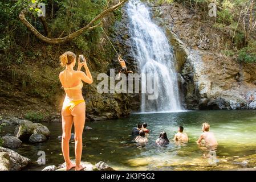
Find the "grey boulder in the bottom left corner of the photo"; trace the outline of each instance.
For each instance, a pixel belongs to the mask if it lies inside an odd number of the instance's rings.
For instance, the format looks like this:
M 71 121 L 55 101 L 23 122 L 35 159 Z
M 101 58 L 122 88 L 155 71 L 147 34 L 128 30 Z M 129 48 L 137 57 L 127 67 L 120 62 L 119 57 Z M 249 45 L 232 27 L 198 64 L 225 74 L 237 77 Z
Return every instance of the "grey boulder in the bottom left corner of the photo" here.
M 0 147 L 0 152 L 6 152 L 10 156 L 10 170 L 11 171 L 18 171 L 22 168 L 26 167 L 27 164 L 31 161 L 28 158 L 19 155 L 17 152 L 10 150 L 9 148 Z M 5 154 L 6 156 L 6 154 Z M 6 158 L 6 157 L 5 157 Z M 1 162 L 2 160 L 0 160 Z

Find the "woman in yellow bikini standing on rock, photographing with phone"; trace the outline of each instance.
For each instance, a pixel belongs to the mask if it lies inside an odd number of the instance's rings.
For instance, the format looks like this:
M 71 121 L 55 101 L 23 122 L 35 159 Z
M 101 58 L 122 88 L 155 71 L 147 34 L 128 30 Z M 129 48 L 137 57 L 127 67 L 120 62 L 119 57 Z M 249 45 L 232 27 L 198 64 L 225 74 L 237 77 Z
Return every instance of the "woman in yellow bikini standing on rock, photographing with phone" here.
M 83 62 L 78 62 L 78 71 L 73 68 L 76 64 L 76 55 L 73 52 L 65 52 L 60 56 L 60 64 L 64 71 L 60 72 L 59 80 L 66 92 L 66 97 L 62 106 L 62 152 L 66 162 L 66 170 L 73 167 L 77 171 L 83 169 L 80 165 L 82 155 L 82 134 L 84 123 L 86 120 L 86 103 L 82 95 L 83 82 L 92 83 L 92 76 L 87 67 L 86 59 L 82 56 Z M 86 73 L 80 71 L 84 66 Z M 70 161 L 69 141 L 71 137 L 71 129 L 74 122 L 75 126 L 75 156 L 76 164 Z

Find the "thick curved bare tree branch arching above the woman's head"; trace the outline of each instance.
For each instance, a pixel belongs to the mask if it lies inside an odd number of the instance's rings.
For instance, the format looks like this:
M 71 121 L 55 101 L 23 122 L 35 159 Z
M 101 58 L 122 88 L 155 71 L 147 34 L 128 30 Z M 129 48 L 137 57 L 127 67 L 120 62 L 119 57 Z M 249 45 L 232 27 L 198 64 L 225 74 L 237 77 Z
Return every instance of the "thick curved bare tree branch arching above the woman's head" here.
M 93 26 L 93 24 L 97 21 L 100 20 L 102 18 L 104 18 L 104 16 L 106 14 L 108 14 L 111 11 L 115 11 L 116 9 L 118 9 L 120 6 L 122 6 L 126 1 L 128 0 L 123 0 L 119 3 L 117 3 L 116 5 L 109 7 L 107 10 L 104 10 L 102 13 L 100 13 L 99 15 L 97 15 L 94 19 L 91 20 L 90 23 L 88 23 L 85 27 L 80 28 L 78 31 L 73 32 L 72 34 L 69 34 L 67 36 L 65 36 L 64 38 L 48 38 L 47 36 L 44 36 L 42 34 L 40 34 L 40 32 L 38 30 L 36 30 L 35 27 L 33 27 L 29 21 L 27 21 L 25 14 L 27 13 L 27 10 L 22 10 L 21 13 L 19 14 L 19 19 L 21 19 L 21 22 L 23 24 L 25 24 L 25 26 L 29 29 L 29 31 L 32 32 L 32 34 L 34 34 L 38 39 L 42 40 L 43 42 L 46 42 L 48 44 L 62 44 L 65 42 L 68 42 L 72 39 L 74 39 L 76 36 L 81 35 L 84 31 L 89 31 L 92 30 L 93 28 L 97 27 L 100 25 L 96 24 L 95 26 Z

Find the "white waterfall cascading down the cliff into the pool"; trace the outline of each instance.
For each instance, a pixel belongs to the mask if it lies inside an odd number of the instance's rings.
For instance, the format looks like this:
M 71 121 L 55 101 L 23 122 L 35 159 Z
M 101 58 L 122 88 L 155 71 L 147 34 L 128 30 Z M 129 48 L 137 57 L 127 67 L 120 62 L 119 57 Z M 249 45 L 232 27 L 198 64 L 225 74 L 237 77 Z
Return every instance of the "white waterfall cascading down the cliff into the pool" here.
M 164 32 L 152 22 L 150 11 L 139 0 L 128 2 L 129 32 L 136 51 L 135 57 L 141 73 L 157 73 L 159 97 L 148 100 L 148 94 L 141 94 L 141 111 L 180 111 L 177 76 L 174 70 L 172 47 Z

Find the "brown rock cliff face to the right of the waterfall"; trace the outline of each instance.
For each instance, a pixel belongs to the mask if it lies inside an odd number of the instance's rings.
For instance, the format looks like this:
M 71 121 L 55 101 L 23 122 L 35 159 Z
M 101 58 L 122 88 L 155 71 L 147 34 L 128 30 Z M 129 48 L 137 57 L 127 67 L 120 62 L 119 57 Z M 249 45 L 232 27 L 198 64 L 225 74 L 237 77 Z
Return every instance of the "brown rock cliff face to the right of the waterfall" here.
M 212 28 L 210 20 L 198 22 L 177 3 L 149 6 L 174 48 L 188 109 L 255 109 L 254 102 L 247 102 L 250 94 L 256 96 L 255 64 L 238 64 L 222 55 L 230 42 Z

